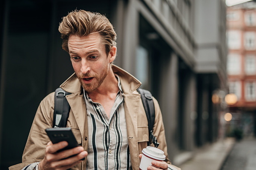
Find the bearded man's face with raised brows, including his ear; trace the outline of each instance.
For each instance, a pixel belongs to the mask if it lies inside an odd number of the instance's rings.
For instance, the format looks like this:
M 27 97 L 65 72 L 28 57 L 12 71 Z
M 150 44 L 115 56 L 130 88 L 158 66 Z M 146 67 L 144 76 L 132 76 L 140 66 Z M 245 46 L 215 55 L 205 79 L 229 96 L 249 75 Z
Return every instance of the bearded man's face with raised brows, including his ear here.
M 83 89 L 92 92 L 100 87 L 108 75 L 110 63 L 115 59 L 116 50 L 113 52 L 112 49 L 107 55 L 99 33 L 83 37 L 70 35 L 68 50 Z

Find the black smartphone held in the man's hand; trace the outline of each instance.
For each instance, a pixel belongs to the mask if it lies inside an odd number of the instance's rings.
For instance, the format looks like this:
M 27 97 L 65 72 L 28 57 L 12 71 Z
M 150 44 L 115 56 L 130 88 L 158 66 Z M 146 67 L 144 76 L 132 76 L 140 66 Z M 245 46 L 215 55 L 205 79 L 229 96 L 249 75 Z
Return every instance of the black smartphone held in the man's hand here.
M 45 131 L 53 144 L 60 141 L 67 141 L 68 145 L 63 149 L 58 150 L 58 152 L 65 149 L 71 149 L 73 147 L 81 146 L 77 143 L 70 127 L 47 128 L 45 129 Z M 84 160 L 84 158 L 81 160 Z

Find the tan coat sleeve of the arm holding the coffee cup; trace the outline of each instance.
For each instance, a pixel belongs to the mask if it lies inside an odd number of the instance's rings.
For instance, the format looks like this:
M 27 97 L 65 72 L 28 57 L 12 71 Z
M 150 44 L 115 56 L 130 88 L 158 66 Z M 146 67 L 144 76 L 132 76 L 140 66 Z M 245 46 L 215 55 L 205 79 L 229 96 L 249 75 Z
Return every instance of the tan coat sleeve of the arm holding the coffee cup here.
M 169 169 L 173 170 L 180 170 L 181 168 L 172 165 L 168 158 L 168 152 L 167 152 L 167 144 L 166 144 L 166 139 L 165 139 L 165 131 L 164 131 L 164 126 L 163 126 L 163 121 L 162 121 L 162 114 L 161 110 L 159 107 L 159 104 L 155 98 L 153 98 L 154 101 L 154 107 L 155 107 L 155 122 L 154 122 L 154 127 L 153 127 L 153 134 L 157 139 L 157 142 L 159 143 L 159 146 L 157 148 L 163 150 L 166 158 L 164 161 L 168 163 Z

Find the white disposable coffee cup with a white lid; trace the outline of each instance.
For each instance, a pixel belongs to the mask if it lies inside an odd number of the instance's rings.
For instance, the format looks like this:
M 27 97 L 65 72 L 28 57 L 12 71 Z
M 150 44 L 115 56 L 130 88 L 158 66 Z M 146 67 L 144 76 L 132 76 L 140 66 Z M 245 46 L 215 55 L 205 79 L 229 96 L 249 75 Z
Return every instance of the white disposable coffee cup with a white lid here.
M 163 151 L 152 146 L 147 146 L 142 150 L 142 158 L 140 161 L 139 169 L 140 170 L 147 170 L 148 166 L 152 165 L 152 161 L 163 161 L 165 160 L 165 155 Z

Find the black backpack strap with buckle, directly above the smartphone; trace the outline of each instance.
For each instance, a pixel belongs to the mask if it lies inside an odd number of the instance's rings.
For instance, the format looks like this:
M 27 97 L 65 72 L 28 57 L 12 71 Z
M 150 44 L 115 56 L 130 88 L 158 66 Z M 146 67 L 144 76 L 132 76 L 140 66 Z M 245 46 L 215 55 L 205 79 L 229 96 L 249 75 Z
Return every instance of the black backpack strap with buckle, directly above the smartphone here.
M 60 87 L 55 90 L 53 127 L 66 127 L 69 116 L 70 105 L 67 102 L 66 95 L 71 94 Z

